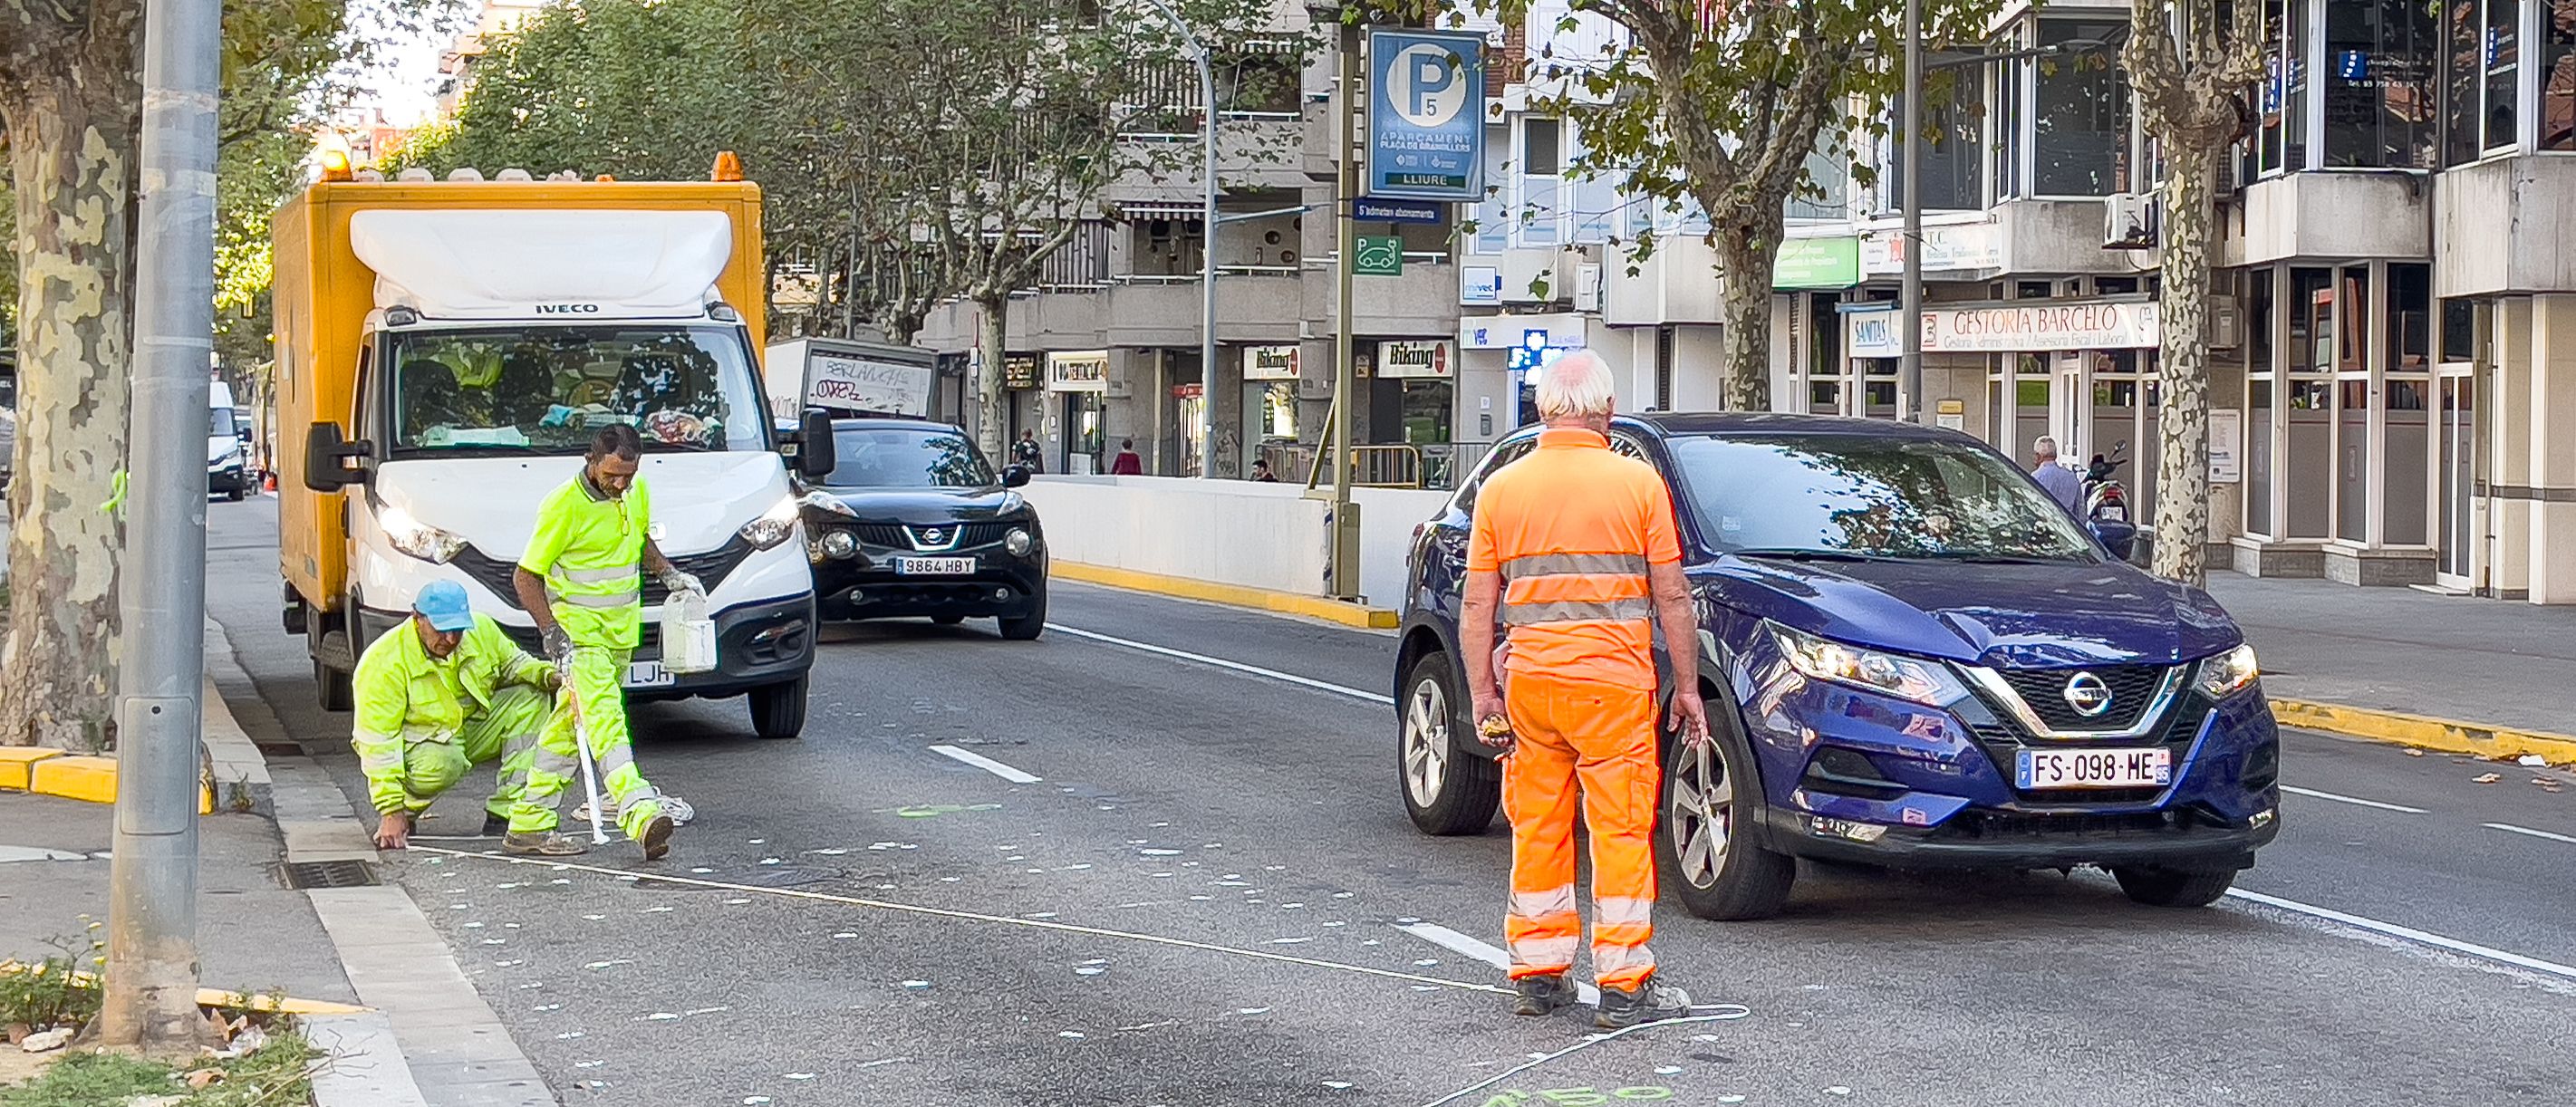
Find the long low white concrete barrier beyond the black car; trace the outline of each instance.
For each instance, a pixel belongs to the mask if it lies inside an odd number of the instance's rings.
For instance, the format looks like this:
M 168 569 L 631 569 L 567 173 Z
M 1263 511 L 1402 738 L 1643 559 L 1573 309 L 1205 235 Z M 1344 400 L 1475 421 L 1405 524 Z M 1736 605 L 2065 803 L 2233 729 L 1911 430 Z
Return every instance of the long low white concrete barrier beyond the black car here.
M 1046 523 L 1056 559 L 1293 595 L 1329 595 L 1324 499 L 1298 484 L 1200 481 L 1188 476 L 1038 476 L 1023 489 Z M 1360 595 L 1370 608 L 1404 600 L 1404 554 L 1414 525 L 1448 492 L 1355 489 L 1360 505 Z

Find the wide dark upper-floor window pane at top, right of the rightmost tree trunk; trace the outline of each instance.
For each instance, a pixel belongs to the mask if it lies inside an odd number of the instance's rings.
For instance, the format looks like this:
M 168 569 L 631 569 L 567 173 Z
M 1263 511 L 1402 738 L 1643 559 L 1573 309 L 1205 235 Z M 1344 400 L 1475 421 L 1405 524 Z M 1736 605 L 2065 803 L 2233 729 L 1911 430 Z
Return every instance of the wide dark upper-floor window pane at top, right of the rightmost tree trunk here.
M 2434 167 L 2437 64 L 2421 0 L 2326 5 L 2326 165 Z

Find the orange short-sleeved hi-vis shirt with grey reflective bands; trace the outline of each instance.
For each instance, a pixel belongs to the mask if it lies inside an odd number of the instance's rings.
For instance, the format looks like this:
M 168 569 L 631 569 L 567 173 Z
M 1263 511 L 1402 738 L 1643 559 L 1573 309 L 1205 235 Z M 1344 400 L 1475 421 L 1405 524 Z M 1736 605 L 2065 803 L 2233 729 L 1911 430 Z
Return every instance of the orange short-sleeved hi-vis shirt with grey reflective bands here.
M 1502 572 L 1510 672 L 1654 687 L 1649 564 L 1682 561 L 1672 489 L 1592 430 L 1543 430 L 1476 489 L 1468 572 Z

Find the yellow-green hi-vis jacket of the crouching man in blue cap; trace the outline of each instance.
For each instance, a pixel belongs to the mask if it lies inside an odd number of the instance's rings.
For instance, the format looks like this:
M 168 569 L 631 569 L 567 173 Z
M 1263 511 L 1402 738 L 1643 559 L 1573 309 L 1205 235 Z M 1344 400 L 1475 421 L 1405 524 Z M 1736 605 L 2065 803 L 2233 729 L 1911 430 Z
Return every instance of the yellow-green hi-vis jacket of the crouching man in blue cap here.
M 350 677 L 358 700 L 350 747 L 366 770 L 366 798 L 379 814 L 402 811 L 402 759 L 410 747 L 456 741 L 469 716 L 492 708 L 492 693 L 507 685 L 546 687 L 549 672 L 546 662 L 518 649 L 482 613 L 446 662 L 420 646 L 420 631 L 410 620 L 386 631 L 366 646 Z

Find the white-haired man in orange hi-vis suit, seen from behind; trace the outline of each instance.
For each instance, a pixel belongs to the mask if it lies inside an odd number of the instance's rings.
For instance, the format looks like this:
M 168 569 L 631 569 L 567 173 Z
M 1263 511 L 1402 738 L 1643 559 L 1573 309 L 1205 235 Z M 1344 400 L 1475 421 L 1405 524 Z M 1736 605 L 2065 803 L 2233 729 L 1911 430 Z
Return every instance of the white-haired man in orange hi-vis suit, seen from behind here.
M 1659 783 L 1654 623 L 1672 672 L 1700 667 L 1672 489 L 1643 461 L 1610 451 L 1610 368 L 1592 350 L 1571 350 L 1540 376 L 1538 448 L 1476 492 L 1461 646 L 1476 731 L 1510 749 L 1502 806 L 1512 816 L 1504 937 L 1515 1012 L 1548 1014 L 1574 999 L 1579 801 L 1592 832 L 1595 1025 L 1633 1027 L 1690 1012 L 1690 994 L 1662 981 L 1646 950 Z M 1494 651 L 1497 623 L 1510 628 L 1507 662 Z M 1672 718 L 1682 741 L 1708 741 L 1695 680 L 1672 690 Z

